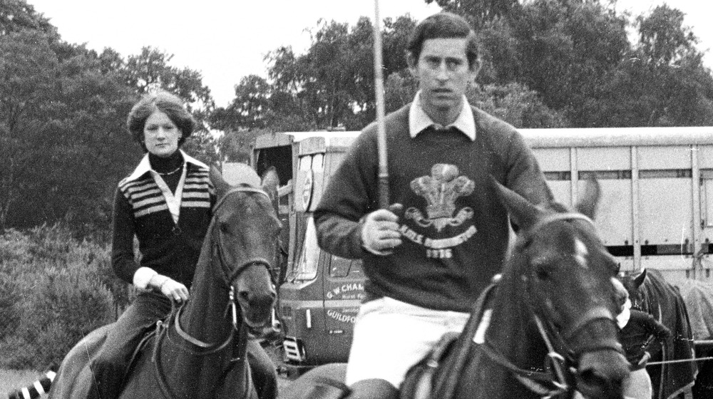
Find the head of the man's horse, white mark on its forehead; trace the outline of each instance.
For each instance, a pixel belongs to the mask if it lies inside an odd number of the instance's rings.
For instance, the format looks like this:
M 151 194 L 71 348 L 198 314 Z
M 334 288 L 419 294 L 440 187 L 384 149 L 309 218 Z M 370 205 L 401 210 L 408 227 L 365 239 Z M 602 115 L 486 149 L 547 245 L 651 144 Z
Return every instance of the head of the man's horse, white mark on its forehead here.
M 510 297 L 511 304 L 505 305 L 511 306 L 509 311 L 529 315 L 519 321 L 525 323 L 523 342 L 513 345 L 527 351 L 525 341 L 547 344 L 530 346 L 542 349 L 525 353 L 520 360 L 529 362 L 525 368 L 530 369 L 542 369 L 543 358 L 550 365 L 559 363 L 553 368 L 562 382 L 586 398 L 622 398 L 622 380 L 629 367 L 615 324 L 612 279 L 618 266 L 592 222 L 599 198 L 597 182 L 588 181 L 585 192 L 580 192 L 576 212 L 558 204 L 536 207 L 501 185 L 498 190 L 519 227 L 498 284 L 498 291 L 505 292 L 498 295 Z M 493 321 L 495 317 L 493 313 Z M 523 379 L 527 378 L 520 382 Z

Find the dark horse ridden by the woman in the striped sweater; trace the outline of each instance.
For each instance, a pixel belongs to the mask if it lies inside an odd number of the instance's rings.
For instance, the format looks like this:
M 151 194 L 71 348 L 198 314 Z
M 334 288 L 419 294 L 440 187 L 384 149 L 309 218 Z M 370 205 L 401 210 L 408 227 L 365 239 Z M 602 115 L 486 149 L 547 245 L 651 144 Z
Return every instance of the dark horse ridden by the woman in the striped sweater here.
M 190 300 L 146 338 L 120 398 L 257 398 L 245 358 L 248 334 L 272 329 L 280 223 L 257 187 L 231 187 L 211 170 L 218 201 L 195 270 Z M 85 398 L 91 360 L 111 325 L 64 358 L 50 398 Z

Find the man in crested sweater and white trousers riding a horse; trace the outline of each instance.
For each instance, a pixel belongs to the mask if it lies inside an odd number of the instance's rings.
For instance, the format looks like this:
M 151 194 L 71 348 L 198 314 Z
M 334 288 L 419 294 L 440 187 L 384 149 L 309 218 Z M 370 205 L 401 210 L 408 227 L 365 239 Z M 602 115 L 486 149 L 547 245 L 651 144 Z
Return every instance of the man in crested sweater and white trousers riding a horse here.
M 474 299 L 501 271 L 508 212 L 490 175 L 533 204 L 553 199 L 517 130 L 468 104 L 476 41 L 454 14 L 416 26 L 406 60 L 419 92 L 385 120 L 394 205 L 378 209 L 372 123 L 315 211 L 322 248 L 363 258 L 368 277 L 347 366 L 349 398 L 396 398 L 406 371 L 443 333 L 463 329 Z

